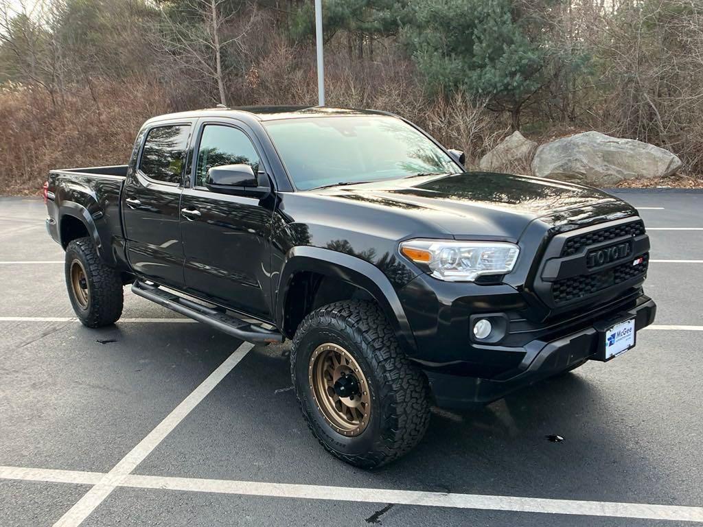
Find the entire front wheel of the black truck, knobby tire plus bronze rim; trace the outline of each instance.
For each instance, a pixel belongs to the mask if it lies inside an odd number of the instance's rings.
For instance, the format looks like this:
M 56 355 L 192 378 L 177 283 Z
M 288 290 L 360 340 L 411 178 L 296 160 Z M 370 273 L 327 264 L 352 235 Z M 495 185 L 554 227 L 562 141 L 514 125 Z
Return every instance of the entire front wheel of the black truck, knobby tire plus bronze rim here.
M 427 378 L 399 349 L 375 304 L 341 301 L 310 313 L 295 333 L 290 360 L 312 433 L 341 460 L 380 467 L 425 435 Z

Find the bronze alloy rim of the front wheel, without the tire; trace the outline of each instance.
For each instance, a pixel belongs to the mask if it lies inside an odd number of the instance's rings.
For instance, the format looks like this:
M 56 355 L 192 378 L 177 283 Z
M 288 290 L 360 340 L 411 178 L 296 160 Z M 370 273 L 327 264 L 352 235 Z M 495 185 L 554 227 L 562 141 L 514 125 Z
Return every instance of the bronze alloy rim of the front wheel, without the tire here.
M 371 417 L 368 382 L 359 363 L 337 344 L 321 344 L 310 357 L 308 377 L 325 421 L 344 436 L 358 436 Z

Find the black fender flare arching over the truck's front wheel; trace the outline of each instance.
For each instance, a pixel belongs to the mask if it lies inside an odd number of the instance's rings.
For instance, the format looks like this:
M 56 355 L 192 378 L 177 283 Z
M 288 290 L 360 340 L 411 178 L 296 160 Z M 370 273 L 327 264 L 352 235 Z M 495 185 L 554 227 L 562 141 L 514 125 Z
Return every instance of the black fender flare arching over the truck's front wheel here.
M 398 338 L 401 349 L 408 355 L 417 351 L 415 337 L 398 294 L 380 269 L 366 260 L 350 254 L 321 247 L 293 247 L 287 254 L 280 272 L 276 294 L 276 324 L 283 328 L 285 300 L 290 282 L 296 273 L 312 271 L 349 282 L 373 297 L 385 313 Z

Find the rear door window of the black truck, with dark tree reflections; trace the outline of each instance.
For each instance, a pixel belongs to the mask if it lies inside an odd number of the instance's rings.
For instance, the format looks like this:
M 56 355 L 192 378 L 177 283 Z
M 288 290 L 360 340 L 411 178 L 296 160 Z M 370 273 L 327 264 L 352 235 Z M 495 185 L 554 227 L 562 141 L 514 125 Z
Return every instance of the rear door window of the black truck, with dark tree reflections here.
M 190 131 L 191 126 L 182 124 L 150 129 L 141 152 L 139 169 L 157 181 L 181 183 Z

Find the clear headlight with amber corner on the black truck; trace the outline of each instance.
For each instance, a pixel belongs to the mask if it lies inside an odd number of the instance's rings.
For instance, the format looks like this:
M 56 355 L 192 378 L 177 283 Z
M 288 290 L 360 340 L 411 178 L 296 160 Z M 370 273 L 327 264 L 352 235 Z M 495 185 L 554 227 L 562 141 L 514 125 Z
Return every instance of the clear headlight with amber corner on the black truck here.
M 480 275 L 510 273 L 520 249 L 508 242 L 408 240 L 400 252 L 446 282 L 473 282 Z

